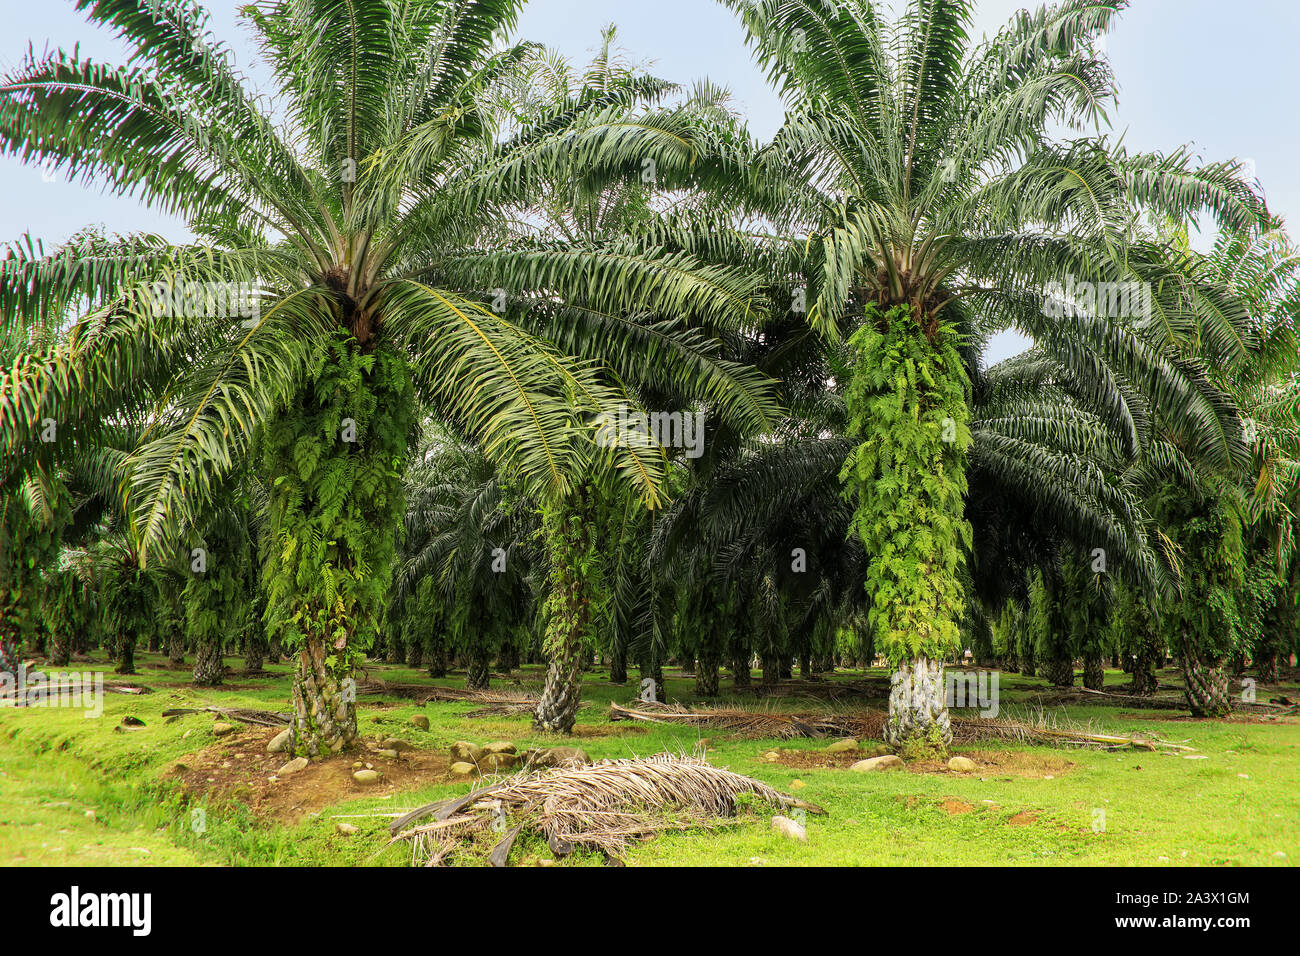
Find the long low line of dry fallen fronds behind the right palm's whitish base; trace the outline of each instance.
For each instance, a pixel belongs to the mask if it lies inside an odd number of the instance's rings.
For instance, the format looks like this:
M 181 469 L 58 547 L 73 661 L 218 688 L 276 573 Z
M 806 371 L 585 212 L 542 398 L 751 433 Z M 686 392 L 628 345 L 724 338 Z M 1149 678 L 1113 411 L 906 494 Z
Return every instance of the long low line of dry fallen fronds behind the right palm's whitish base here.
M 781 714 L 771 710 L 718 709 L 689 710 L 666 704 L 644 704 L 640 709 L 610 705 L 611 721 L 645 721 L 649 723 L 676 723 L 690 727 L 708 727 L 729 731 L 745 737 L 858 737 L 879 739 L 885 726 L 883 710 L 855 710 L 832 714 Z M 982 740 L 1011 740 L 1049 747 L 1097 747 L 1104 749 L 1139 748 L 1154 750 L 1171 748 L 1190 750 L 1190 747 L 1170 744 L 1158 737 L 1101 734 L 1091 727 L 1062 726 L 1041 711 L 1024 719 L 989 719 L 983 717 L 953 717 L 953 740 L 974 744 Z

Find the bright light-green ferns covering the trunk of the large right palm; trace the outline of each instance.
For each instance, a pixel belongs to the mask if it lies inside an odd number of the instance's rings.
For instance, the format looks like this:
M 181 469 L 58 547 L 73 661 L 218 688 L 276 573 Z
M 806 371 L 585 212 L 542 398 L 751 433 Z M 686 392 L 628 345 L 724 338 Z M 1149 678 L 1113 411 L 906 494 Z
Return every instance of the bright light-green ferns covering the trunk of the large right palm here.
M 855 502 L 850 533 L 870 558 L 866 588 L 875 646 L 893 663 L 942 659 L 959 646 L 961 566 L 970 446 L 966 373 L 950 325 L 931 334 L 907 307 L 867 321 L 850 345 L 849 433 L 862 444 L 841 480 Z

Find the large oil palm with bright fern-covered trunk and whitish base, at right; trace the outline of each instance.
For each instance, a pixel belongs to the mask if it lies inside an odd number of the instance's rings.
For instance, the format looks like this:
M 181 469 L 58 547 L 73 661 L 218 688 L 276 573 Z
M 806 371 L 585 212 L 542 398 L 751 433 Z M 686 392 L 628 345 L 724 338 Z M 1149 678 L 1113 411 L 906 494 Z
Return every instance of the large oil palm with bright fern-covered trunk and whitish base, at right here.
M 1144 421 L 1121 381 L 1186 423 L 1205 454 L 1240 454 L 1231 410 L 1162 346 L 1195 330 L 1231 354 L 1242 310 L 1219 289 L 1182 281 L 1167 250 L 1135 243 L 1131 226 L 1141 209 L 1210 209 L 1248 225 L 1262 204 L 1239 164 L 1053 138 L 1054 125 L 1105 122 L 1114 83 L 1095 40 L 1121 0 L 1022 12 L 980 44 L 965 0 L 911 0 L 894 22 L 866 0 L 727 4 L 786 103 L 784 126 L 744 173 L 754 189 L 742 191 L 806 250 L 811 326 L 832 339 L 853 333 L 858 354 L 848 397 L 859 446 L 844 477 L 871 555 L 876 645 L 898 669 L 887 739 L 942 748 L 942 659 L 957 648 L 971 544 L 980 346 L 1011 326 L 1031 336 L 1083 382 L 1128 454 Z M 1054 286 L 1071 281 L 1143 284 L 1156 293 L 1153 313 L 1072 299 L 1061 308 L 1070 297 Z M 1139 337 L 1140 321 L 1158 329 Z M 1063 486 L 1102 484 L 1061 462 L 1035 488 L 1034 458 L 1020 451 L 1039 424 L 989 423 L 985 464 L 1044 506 Z

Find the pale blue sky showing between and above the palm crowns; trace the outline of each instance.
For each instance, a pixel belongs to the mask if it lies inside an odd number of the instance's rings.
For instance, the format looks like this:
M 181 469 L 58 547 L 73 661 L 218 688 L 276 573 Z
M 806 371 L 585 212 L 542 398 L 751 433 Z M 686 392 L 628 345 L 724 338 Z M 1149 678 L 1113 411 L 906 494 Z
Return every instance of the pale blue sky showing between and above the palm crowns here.
M 238 23 L 238 0 L 205 3 L 212 30 L 234 51 L 255 81 L 266 77 Z M 975 34 L 992 33 L 1017 9 L 1017 0 L 983 0 Z M 29 43 L 70 49 L 117 62 L 120 46 L 87 25 L 68 0 L 0 0 L 5 31 L 0 72 L 14 69 Z M 555 47 L 580 62 L 603 23 L 619 26 L 620 46 L 649 60 L 664 78 L 708 77 L 727 86 L 750 129 L 768 138 L 781 120 L 780 101 L 750 59 L 732 13 L 711 0 L 532 0 L 516 34 Z M 1106 39 L 1119 81 L 1112 117 L 1131 150 L 1171 151 L 1191 143 L 1206 160 L 1251 160 L 1270 208 L 1300 216 L 1300 3 L 1296 0 L 1134 0 Z M 177 239 L 183 225 L 133 199 L 48 181 L 40 169 L 0 157 L 0 241 L 31 230 L 49 243 L 86 225 L 109 232 L 151 230 Z M 1202 243 L 1197 243 L 1202 245 Z M 1019 351 L 1009 336 L 991 359 Z

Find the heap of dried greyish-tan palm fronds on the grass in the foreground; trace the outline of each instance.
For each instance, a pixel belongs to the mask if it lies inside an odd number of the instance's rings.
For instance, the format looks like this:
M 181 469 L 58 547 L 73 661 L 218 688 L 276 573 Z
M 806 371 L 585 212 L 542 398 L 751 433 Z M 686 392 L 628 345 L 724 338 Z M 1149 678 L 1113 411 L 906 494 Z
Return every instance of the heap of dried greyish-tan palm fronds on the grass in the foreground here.
M 772 806 L 823 813 L 819 806 L 698 757 L 663 753 L 516 774 L 407 813 L 393 822 L 390 844 L 406 840 L 412 865 L 438 866 L 458 848 L 488 836 L 495 842 L 489 862 L 504 866 L 511 847 L 526 829 L 545 836 L 556 856 L 581 848 L 618 860 L 619 852 L 658 832 L 718 826 L 736 813 L 741 795 Z

